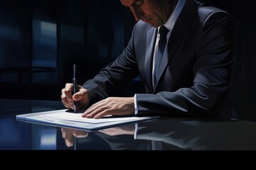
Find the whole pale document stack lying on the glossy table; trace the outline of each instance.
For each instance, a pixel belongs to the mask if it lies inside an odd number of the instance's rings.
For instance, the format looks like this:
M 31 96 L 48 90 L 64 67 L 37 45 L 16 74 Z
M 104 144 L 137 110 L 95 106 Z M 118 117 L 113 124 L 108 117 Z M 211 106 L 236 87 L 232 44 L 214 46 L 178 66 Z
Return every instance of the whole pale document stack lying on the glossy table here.
M 114 125 L 122 125 L 126 123 L 134 123 L 143 120 L 151 120 L 159 118 L 159 116 L 105 116 L 100 119 L 82 118 L 82 112 L 72 113 L 67 109 L 57 111 L 47 111 L 41 113 L 28 113 L 16 115 L 16 120 L 39 123 L 43 125 L 55 125 L 68 128 L 77 128 L 82 130 L 98 130 Z

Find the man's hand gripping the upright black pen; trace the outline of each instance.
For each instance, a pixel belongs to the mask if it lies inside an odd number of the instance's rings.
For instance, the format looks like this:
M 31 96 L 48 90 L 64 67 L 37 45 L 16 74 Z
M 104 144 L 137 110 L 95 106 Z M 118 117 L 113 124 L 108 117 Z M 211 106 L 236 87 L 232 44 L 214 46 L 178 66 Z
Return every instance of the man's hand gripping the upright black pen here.
M 78 101 L 77 109 L 82 108 L 89 102 L 89 94 L 87 89 L 78 85 L 78 92 L 72 94 L 73 84 L 65 84 L 65 88 L 61 90 L 61 101 L 66 108 L 74 109 L 73 101 Z

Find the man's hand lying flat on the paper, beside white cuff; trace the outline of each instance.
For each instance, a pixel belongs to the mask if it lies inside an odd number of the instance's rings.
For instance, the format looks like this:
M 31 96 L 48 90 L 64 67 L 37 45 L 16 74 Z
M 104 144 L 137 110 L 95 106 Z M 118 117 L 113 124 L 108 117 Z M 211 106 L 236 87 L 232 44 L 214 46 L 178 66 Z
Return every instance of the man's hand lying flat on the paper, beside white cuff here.
M 109 97 L 95 103 L 82 114 L 84 118 L 102 118 L 105 115 L 133 115 L 134 97 Z

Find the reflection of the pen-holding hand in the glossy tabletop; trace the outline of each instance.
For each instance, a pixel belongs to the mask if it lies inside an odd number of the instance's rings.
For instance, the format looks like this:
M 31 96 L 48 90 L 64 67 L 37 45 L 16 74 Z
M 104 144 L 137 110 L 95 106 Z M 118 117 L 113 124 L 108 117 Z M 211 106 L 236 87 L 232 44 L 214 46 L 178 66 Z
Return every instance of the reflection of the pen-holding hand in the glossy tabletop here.
M 74 145 L 74 137 L 83 138 L 87 137 L 88 132 L 82 130 L 74 130 L 68 128 L 61 128 L 62 137 L 65 140 L 65 145 L 67 147 L 73 147 Z

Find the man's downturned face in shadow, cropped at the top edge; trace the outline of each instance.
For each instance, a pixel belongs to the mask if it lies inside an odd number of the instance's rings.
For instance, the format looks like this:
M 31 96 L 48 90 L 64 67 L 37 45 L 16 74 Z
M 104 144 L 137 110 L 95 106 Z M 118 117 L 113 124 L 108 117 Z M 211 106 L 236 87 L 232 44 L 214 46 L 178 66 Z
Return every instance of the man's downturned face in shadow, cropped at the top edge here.
M 136 21 L 142 20 L 159 27 L 169 18 L 169 0 L 120 0 L 123 6 L 127 6 Z

